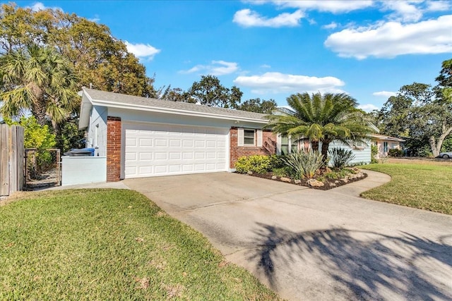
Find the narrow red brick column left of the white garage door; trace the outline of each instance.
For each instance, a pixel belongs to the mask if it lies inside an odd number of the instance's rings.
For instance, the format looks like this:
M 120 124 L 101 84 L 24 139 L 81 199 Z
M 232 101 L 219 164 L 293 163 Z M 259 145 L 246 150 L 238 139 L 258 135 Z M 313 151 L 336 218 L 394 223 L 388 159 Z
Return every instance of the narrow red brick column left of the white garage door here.
M 107 117 L 107 182 L 121 179 L 121 118 Z

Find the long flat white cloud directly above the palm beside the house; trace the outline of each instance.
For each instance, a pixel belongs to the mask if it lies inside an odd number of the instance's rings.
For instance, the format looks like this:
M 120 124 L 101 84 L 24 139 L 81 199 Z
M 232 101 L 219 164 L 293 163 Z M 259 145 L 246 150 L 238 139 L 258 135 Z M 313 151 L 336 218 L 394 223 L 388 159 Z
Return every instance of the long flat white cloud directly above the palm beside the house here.
M 292 75 L 279 72 L 268 72 L 263 75 L 239 76 L 234 84 L 250 87 L 257 94 L 281 92 L 344 92 L 339 87 L 345 83 L 332 76 L 317 78 L 307 75 Z

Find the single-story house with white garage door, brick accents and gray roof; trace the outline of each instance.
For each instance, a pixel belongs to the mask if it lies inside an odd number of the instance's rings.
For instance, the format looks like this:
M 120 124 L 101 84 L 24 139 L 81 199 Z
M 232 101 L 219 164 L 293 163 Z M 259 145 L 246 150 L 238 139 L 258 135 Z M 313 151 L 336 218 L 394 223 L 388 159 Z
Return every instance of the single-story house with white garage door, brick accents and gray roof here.
M 117 181 L 234 171 L 240 156 L 280 154 L 288 140 L 262 130 L 265 116 L 83 88 L 79 128 L 87 147 L 107 157 L 107 181 Z M 356 162 L 370 162 L 369 145 L 354 152 Z

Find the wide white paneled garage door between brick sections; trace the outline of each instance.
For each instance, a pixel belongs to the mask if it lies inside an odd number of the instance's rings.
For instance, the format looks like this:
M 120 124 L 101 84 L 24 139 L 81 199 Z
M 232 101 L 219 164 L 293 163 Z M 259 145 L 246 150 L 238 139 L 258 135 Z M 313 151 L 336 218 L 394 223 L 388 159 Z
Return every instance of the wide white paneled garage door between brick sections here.
M 227 128 L 124 123 L 124 177 L 227 171 Z

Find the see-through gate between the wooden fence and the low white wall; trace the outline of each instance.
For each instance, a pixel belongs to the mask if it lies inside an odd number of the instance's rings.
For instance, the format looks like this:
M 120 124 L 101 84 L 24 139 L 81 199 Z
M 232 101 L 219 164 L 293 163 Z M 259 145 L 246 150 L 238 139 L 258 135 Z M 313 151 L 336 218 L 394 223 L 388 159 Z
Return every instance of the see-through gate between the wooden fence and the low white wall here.
M 61 185 L 60 149 L 25 149 L 25 190 Z

